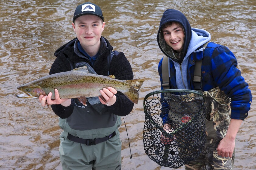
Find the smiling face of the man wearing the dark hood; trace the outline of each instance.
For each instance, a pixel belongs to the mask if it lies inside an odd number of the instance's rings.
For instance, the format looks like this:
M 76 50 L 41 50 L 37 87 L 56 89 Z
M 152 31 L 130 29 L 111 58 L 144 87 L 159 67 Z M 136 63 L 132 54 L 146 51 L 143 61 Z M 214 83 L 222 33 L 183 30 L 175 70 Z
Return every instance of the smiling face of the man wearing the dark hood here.
M 172 23 L 162 29 L 165 42 L 176 52 L 180 53 L 184 44 L 184 30 L 179 23 Z

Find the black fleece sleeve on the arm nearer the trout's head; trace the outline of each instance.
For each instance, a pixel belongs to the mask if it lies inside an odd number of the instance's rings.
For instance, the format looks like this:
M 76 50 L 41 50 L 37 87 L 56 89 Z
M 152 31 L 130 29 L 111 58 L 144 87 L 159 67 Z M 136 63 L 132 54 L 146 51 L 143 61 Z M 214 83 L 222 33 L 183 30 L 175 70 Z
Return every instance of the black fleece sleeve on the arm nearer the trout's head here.
M 60 55 L 63 55 L 63 54 L 60 54 Z M 69 63 L 66 60 L 66 57 L 63 55 L 63 56 L 58 56 L 55 59 L 50 69 L 50 74 L 61 73 L 61 72 L 70 71 L 70 70 L 71 70 L 71 67 L 69 66 Z M 73 113 L 74 100 L 71 99 L 71 104 L 68 107 L 62 106 L 61 104 L 54 104 L 54 105 L 51 105 L 51 107 L 57 116 L 59 116 L 62 119 L 65 119 L 65 118 L 68 118 Z

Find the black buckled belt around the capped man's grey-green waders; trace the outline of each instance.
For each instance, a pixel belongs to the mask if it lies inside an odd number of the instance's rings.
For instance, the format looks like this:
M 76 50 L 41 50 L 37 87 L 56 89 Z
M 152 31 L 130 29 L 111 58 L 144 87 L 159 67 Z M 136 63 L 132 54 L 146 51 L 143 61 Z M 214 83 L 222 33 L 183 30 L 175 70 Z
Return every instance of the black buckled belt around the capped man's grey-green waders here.
M 106 136 L 104 138 L 82 139 L 82 138 L 78 138 L 76 136 L 73 136 L 72 134 L 68 134 L 68 139 L 73 141 L 73 142 L 77 142 L 77 143 L 81 143 L 81 144 L 94 145 L 94 144 L 98 144 L 98 143 L 101 143 L 101 142 L 108 141 L 109 139 L 111 139 L 115 135 L 116 135 L 116 131 L 114 131 L 112 134 L 110 134 L 110 135 L 108 135 L 108 136 Z

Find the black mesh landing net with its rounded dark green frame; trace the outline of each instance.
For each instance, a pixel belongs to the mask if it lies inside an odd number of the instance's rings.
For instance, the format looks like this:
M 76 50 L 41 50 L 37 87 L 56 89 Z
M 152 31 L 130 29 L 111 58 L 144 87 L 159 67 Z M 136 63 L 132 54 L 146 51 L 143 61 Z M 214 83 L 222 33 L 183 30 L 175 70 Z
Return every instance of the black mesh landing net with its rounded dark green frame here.
M 182 94 L 182 95 L 177 95 Z M 202 93 L 158 90 L 144 98 L 144 150 L 158 165 L 179 168 L 201 153 L 206 140 Z

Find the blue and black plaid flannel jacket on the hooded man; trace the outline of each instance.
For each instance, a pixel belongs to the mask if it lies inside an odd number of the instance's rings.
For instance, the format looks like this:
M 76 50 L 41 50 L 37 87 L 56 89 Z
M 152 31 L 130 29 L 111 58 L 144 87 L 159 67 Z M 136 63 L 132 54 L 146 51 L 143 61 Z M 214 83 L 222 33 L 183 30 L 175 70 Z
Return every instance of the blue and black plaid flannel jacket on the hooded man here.
M 188 82 L 190 90 L 194 90 L 195 61 L 202 60 L 201 87 L 203 91 L 211 90 L 217 86 L 231 98 L 231 118 L 244 120 L 248 116 L 252 101 L 251 90 L 245 82 L 241 72 L 236 68 L 237 61 L 234 54 L 225 46 L 208 43 L 206 49 L 192 53 L 188 63 Z M 162 59 L 163 60 L 163 59 Z M 158 73 L 162 87 L 162 60 L 158 65 Z M 177 89 L 174 63 L 170 61 L 170 89 Z M 161 97 L 163 97 L 161 95 Z M 162 108 L 168 108 L 162 103 Z M 166 112 L 168 113 L 168 112 Z M 162 115 L 163 123 L 168 122 L 168 115 Z

